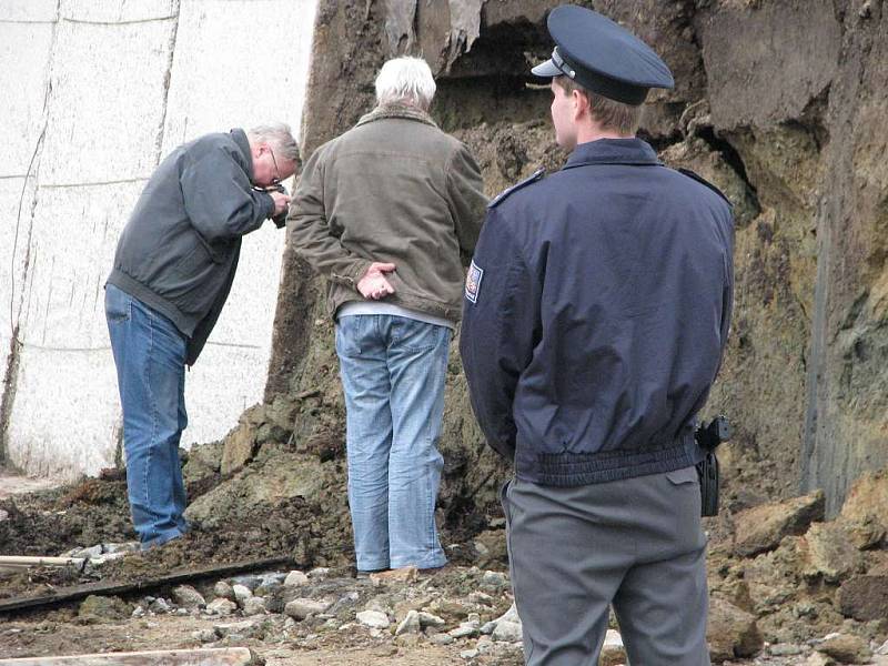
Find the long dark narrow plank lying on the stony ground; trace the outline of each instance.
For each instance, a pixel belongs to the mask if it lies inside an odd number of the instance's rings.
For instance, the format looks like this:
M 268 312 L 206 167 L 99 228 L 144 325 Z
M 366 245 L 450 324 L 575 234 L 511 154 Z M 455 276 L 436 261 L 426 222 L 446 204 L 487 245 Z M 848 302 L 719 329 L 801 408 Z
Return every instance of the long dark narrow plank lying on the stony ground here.
M 254 572 L 291 564 L 293 564 L 293 559 L 291 557 L 271 557 L 268 559 L 252 559 L 249 562 L 238 562 L 233 564 L 221 564 L 196 569 L 179 571 L 148 581 L 134 581 L 130 583 L 103 583 L 99 581 L 98 583 L 88 583 L 87 585 L 77 585 L 74 587 L 60 587 L 56 589 L 53 594 L 14 597 L 11 599 L 0 601 L 0 614 L 11 613 L 14 610 L 24 610 L 28 608 L 58 606 L 59 604 L 65 604 L 87 598 L 92 594 L 118 595 L 148 592 L 149 589 L 164 587 L 167 585 L 179 585 L 180 583 L 186 583 L 188 581 L 195 581 L 199 578 L 221 578 L 224 576 L 232 576 L 234 574 L 243 574 L 246 572 Z

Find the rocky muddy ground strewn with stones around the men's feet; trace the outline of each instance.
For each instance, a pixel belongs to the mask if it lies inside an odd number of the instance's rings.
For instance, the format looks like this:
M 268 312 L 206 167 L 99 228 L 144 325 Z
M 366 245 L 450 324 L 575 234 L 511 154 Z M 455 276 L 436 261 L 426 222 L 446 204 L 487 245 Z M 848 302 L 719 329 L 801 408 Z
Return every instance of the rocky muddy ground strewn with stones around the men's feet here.
M 337 508 L 344 500 L 331 500 L 343 488 L 339 476 L 324 470 L 335 467 L 335 458 L 311 463 L 311 474 L 303 470 L 315 483 L 309 492 L 300 485 L 306 478 L 296 474 L 309 465 L 300 456 L 290 455 L 290 467 L 281 470 L 282 458 L 268 453 L 264 463 L 259 456 L 213 485 L 194 473 L 198 461 L 213 455 L 221 457 L 219 445 L 194 450 L 185 465 L 192 506 L 215 497 L 213 519 L 147 554 L 112 545 L 133 537 L 125 483 L 117 473 L 0 503 L 6 514 L 0 554 L 121 553 L 84 572 L 7 574 L 0 599 L 272 556 L 291 557 L 300 571 L 0 615 L 0 656 L 248 646 L 268 664 L 522 663 L 504 521 L 495 509 L 472 514 L 472 529 L 444 526 L 447 568 L 356 579 L 349 523 Z M 281 475 L 304 495 L 276 487 Z M 195 478 L 204 478 L 202 494 Z M 239 498 L 242 506 L 231 509 Z M 330 502 L 326 511 L 323 502 Z M 714 663 L 888 664 L 888 472 L 861 477 L 836 519 L 824 519 L 824 505 L 818 492 L 738 512 L 725 508 L 707 519 Z M 616 632 L 608 635 L 602 663 L 625 663 Z

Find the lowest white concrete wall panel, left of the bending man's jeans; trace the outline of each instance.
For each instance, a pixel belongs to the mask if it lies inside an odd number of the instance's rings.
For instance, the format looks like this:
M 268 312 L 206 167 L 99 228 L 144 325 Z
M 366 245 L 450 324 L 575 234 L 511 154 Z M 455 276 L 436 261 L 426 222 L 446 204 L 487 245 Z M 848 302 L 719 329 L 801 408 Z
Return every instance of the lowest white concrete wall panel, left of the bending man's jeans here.
M 26 345 L 7 460 L 41 476 L 98 474 L 114 464 L 119 412 L 110 350 L 59 352 Z

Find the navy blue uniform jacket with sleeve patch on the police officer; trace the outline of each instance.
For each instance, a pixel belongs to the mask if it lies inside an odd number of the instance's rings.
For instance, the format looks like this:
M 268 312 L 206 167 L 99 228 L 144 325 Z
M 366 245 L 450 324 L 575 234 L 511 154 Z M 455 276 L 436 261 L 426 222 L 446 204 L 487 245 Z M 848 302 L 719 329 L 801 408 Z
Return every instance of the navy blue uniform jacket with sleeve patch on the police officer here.
M 581 144 L 495 199 L 460 351 L 488 444 L 519 478 L 575 486 L 696 464 L 722 362 L 734 224 L 713 186 L 638 139 Z

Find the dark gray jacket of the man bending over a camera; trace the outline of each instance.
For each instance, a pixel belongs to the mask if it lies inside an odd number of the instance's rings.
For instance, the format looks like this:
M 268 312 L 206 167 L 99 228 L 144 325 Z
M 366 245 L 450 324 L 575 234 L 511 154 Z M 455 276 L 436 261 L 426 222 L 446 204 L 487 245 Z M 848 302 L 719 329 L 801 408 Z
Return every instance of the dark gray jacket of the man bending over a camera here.
M 274 212 L 252 179 L 243 130 L 185 143 L 154 171 L 118 242 L 108 282 L 172 320 L 189 365 L 229 296 L 241 236 Z

